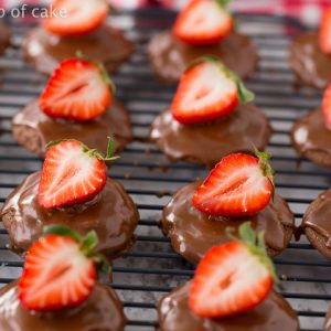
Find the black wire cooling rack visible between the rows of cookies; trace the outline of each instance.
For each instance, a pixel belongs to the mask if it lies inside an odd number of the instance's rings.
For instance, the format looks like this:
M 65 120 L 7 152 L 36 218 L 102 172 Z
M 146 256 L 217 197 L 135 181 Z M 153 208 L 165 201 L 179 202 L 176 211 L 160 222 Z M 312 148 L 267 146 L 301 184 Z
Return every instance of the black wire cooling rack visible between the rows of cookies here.
M 114 24 L 126 30 L 136 43 L 131 61 L 114 76 L 117 96 L 131 115 L 136 140 L 109 170 L 110 177 L 124 183 L 141 215 L 136 245 L 114 265 L 113 287 L 125 302 L 129 318 L 127 330 L 153 330 L 159 298 L 193 275 L 193 268 L 173 253 L 158 224 L 172 192 L 204 177 L 206 171 L 188 163 L 168 164 L 156 146 L 146 141 L 151 121 L 169 105 L 174 90 L 174 86 L 162 86 L 153 78 L 146 45 L 152 34 L 170 26 L 173 18 L 173 12 L 161 10 L 125 12 L 111 18 Z M 0 58 L 3 70 L 0 74 L 1 204 L 26 174 L 42 164 L 11 137 L 12 116 L 39 95 L 45 78 L 21 60 L 19 45 L 31 24 L 18 20 L 10 24 L 17 49 L 8 50 Z M 252 35 L 259 47 L 259 70 L 248 82 L 248 87 L 256 93 L 256 104 L 267 114 L 275 129 L 268 150 L 274 156 L 277 191 L 289 202 L 298 225 L 308 204 L 331 186 L 330 171 L 299 160 L 288 137 L 291 122 L 320 103 L 320 95 L 292 88 L 287 45 L 301 26 L 290 19 L 263 15 L 238 15 L 238 26 Z M 1 285 L 19 277 L 22 266 L 21 258 L 8 250 L 7 244 L 7 232 L 0 227 Z M 298 311 L 302 330 L 322 330 L 331 300 L 331 261 L 302 237 L 300 242 L 292 242 L 275 263 L 282 279 L 282 293 Z

